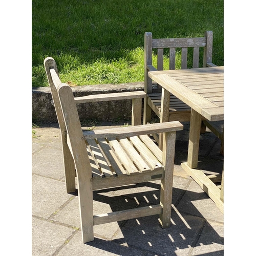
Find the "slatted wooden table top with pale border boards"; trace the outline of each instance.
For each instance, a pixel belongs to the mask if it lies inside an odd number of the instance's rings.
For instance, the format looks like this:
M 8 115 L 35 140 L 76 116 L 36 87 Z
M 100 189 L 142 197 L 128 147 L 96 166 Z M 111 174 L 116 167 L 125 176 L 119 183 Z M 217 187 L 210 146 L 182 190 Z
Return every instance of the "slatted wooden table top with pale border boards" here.
M 151 71 L 148 76 L 209 121 L 224 120 L 224 67 Z

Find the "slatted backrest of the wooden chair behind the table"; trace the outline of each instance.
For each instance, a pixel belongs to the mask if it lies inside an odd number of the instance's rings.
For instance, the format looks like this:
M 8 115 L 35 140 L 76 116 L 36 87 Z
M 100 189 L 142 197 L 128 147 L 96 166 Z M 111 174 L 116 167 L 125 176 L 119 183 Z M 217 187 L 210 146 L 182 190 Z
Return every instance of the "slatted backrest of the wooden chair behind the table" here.
M 148 71 L 163 70 L 164 49 L 169 49 L 169 70 L 176 66 L 176 48 L 181 48 L 181 69 L 187 69 L 188 48 L 193 48 L 193 68 L 199 68 L 200 47 L 204 48 L 203 67 L 212 61 L 212 31 L 204 37 L 153 39 L 151 32 L 144 35 L 144 82 L 145 92 L 152 93 L 152 79 Z M 153 66 L 153 49 L 157 49 L 157 67 Z

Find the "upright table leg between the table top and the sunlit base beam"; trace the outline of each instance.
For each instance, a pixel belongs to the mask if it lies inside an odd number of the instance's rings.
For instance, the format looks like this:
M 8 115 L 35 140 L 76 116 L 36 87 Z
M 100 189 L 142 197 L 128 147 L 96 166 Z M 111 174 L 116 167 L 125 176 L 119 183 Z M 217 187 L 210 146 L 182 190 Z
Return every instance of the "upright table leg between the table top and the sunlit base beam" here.
M 187 164 L 190 168 L 197 168 L 199 140 L 201 129 L 201 115 L 191 109 Z

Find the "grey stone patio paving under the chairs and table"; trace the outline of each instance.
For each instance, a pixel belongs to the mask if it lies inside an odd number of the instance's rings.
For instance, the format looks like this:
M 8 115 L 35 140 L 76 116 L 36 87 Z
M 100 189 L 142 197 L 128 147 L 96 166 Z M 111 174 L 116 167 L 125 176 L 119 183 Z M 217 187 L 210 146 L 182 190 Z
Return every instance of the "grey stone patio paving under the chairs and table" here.
M 116 126 L 99 123 L 95 129 Z M 87 129 L 87 127 L 84 127 Z M 95 240 L 81 240 L 78 198 L 66 193 L 58 124 L 34 128 L 32 138 L 32 255 L 224 255 L 224 218 L 215 203 L 180 167 L 186 162 L 189 124 L 177 132 L 172 226 L 158 216 L 94 226 Z M 221 141 L 200 135 L 199 161 L 221 172 Z M 157 204 L 160 181 L 94 191 L 94 212 Z

